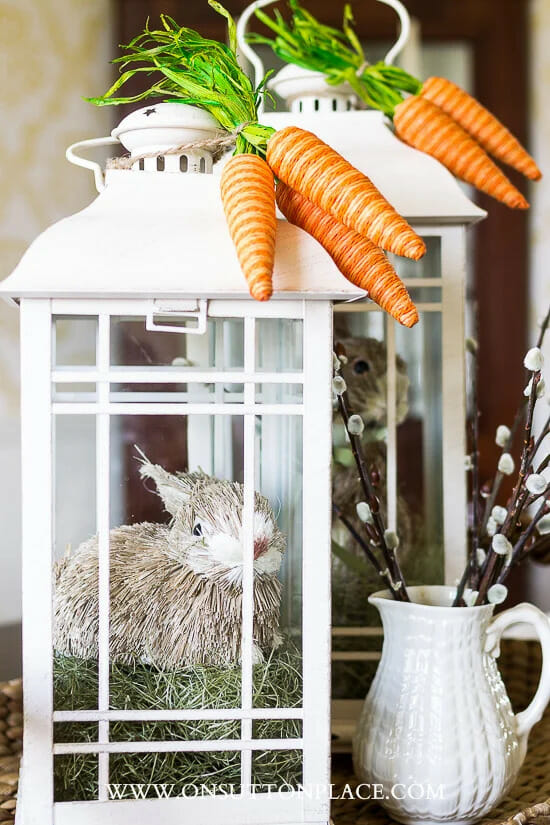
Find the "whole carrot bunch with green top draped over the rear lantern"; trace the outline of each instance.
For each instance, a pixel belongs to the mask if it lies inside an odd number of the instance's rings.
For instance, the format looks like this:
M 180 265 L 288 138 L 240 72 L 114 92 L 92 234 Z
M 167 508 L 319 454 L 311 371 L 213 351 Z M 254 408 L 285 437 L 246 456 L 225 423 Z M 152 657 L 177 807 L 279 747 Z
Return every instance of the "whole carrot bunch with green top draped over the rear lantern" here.
M 355 94 L 368 108 L 379 109 L 394 119 L 398 136 L 407 143 L 433 155 L 462 180 L 508 206 L 528 207 L 523 195 L 490 161 L 484 149 L 532 180 L 538 180 L 541 173 L 520 143 L 480 103 L 443 78 L 432 77 L 422 84 L 398 66 L 383 61 L 369 63 L 353 29 L 353 17 L 347 6 L 342 28 L 335 29 L 323 25 L 301 6 L 300 0 L 289 0 L 289 4 L 289 21 L 278 13 L 270 17 L 262 10 L 256 10 L 256 16 L 273 36 L 255 34 L 249 36 L 249 40 L 269 45 L 283 61 L 324 74 L 329 85 L 351 83 Z M 404 100 L 405 95 L 413 97 Z M 293 181 L 289 178 L 286 183 L 318 203 L 313 195 L 301 188 L 296 177 Z M 379 243 L 372 232 L 364 230 L 364 226 L 351 223 L 332 209 L 330 211 L 342 223 Z M 387 242 L 381 245 L 396 251 Z

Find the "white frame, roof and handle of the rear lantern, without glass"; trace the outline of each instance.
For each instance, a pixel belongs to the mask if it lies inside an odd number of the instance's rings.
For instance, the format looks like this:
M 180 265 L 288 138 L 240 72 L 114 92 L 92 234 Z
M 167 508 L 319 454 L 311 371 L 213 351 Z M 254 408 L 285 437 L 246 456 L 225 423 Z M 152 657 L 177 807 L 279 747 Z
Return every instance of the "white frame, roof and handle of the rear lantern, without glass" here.
M 238 29 L 239 48 L 254 67 L 256 82 L 265 68 L 258 54 L 245 40 L 248 22 L 256 10 L 274 0 L 255 0 L 241 15 Z M 387 0 L 381 0 L 386 3 Z M 410 30 L 406 8 L 400 0 L 387 3 L 399 17 L 401 32 L 386 55 L 392 62 L 405 45 Z M 460 190 L 449 172 L 433 158 L 397 140 L 384 124 L 380 112 L 357 111 L 358 101 L 351 87 L 330 86 L 318 72 L 293 64 L 285 65 L 268 82 L 269 88 L 282 97 L 287 112 L 262 114 L 262 121 L 280 129 L 294 125 L 311 130 L 337 149 L 356 168 L 367 174 L 397 211 L 422 237 L 441 241 L 441 275 L 432 278 L 403 278 L 420 313 L 441 315 L 442 342 L 442 479 L 443 549 L 446 584 L 462 575 L 467 559 L 467 481 L 466 456 L 466 227 L 485 217 Z M 369 123 L 370 121 L 370 123 Z M 369 128 L 370 127 L 370 128 Z M 395 261 L 399 272 L 398 259 Z M 429 303 L 416 299 L 416 289 L 438 287 L 440 300 Z M 359 301 L 339 304 L 336 311 L 380 312 L 372 303 Z M 396 341 L 395 322 L 386 318 L 387 351 L 387 442 L 386 498 L 387 523 L 396 529 L 397 421 L 396 421 Z M 427 464 L 428 462 L 426 462 Z M 427 500 L 429 491 L 425 490 Z M 382 629 L 368 626 L 333 626 L 334 638 L 382 640 Z M 380 659 L 379 650 L 357 649 L 332 651 L 332 661 L 369 662 Z M 349 751 L 361 700 L 336 699 L 332 702 L 335 751 Z

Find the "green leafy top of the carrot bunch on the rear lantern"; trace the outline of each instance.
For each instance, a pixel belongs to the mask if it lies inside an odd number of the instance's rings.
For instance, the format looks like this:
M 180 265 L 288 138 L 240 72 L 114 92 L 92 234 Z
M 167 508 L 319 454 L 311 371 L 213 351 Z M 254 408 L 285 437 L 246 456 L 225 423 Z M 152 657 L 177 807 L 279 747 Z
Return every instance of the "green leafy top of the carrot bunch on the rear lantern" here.
M 249 43 L 265 43 L 286 63 L 322 72 L 331 86 L 348 83 L 367 106 L 390 117 L 403 100 L 403 93 L 418 94 L 422 84 L 397 66 L 382 61 L 370 65 L 353 28 L 351 7 L 344 6 L 342 29 L 325 26 L 300 5 L 289 0 L 290 22 L 279 11 L 270 17 L 261 9 L 256 17 L 275 37 L 251 33 Z

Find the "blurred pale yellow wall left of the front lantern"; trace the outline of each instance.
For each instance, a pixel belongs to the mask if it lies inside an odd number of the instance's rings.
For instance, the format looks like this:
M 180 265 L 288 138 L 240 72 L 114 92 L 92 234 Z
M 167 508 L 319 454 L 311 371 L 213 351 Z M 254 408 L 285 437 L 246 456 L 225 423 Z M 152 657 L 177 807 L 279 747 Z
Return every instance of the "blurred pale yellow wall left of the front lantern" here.
M 64 153 L 109 132 L 111 111 L 82 96 L 106 88 L 112 42 L 110 0 L 0 0 L 0 279 L 39 232 L 95 193 Z M 17 323 L 0 302 L 0 625 L 19 617 Z

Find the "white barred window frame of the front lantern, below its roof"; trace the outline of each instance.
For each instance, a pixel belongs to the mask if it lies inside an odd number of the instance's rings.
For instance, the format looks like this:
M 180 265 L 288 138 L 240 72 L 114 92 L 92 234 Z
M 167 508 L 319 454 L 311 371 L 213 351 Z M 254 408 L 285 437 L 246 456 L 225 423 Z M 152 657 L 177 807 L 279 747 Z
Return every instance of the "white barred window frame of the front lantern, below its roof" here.
M 327 300 L 284 300 L 258 304 L 251 300 L 211 300 L 210 318 L 244 318 L 244 368 L 227 374 L 215 369 L 120 368 L 110 365 L 110 317 L 146 316 L 150 300 L 23 298 L 21 300 L 21 374 L 23 443 L 23 655 L 24 758 L 18 825 L 196 825 L 223 819 L 237 823 L 327 823 L 329 818 L 329 662 L 330 662 L 330 461 L 332 379 L 332 310 Z M 95 367 L 55 367 L 52 318 L 56 315 L 98 317 Z M 255 324 L 258 318 L 303 321 L 303 371 L 257 372 Z M 243 404 L 124 402 L 110 400 L 112 383 L 143 381 L 178 383 L 231 381 L 244 384 Z M 55 401 L 53 385 L 97 384 L 95 402 Z M 297 404 L 262 404 L 256 384 L 303 384 Z M 154 393 L 151 393 L 154 398 Z M 235 710 L 109 710 L 109 455 L 111 416 L 208 414 L 244 416 L 245 562 L 243 565 L 242 707 Z M 96 416 L 97 529 L 99 533 L 99 697 L 98 709 L 53 710 L 52 563 L 54 536 L 53 422 L 59 415 Z M 302 708 L 252 707 L 253 538 L 255 436 L 257 415 L 300 415 L 303 418 L 303 703 Z M 46 540 L 45 537 L 49 537 Z M 302 719 L 301 739 L 253 739 L 253 719 Z M 114 720 L 240 719 L 240 740 L 109 742 Z M 55 722 L 97 721 L 98 743 L 54 744 Z M 293 793 L 254 793 L 251 759 L 254 750 L 303 750 L 303 787 Z M 242 793 L 201 798 L 109 800 L 109 754 L 127 752 L 224 750 L 242 752 Z M 100 797 L 95 802 L 55 802 L 53 757 L 67 753 L 99 753 Z M 32 784 L 31 784 L 32 783 Z M 308 789 L 315 788 L 311 794 Z

